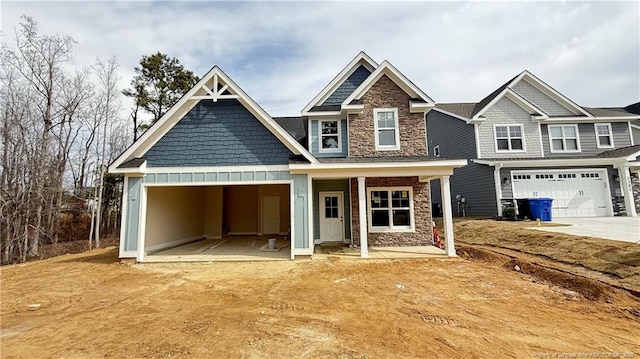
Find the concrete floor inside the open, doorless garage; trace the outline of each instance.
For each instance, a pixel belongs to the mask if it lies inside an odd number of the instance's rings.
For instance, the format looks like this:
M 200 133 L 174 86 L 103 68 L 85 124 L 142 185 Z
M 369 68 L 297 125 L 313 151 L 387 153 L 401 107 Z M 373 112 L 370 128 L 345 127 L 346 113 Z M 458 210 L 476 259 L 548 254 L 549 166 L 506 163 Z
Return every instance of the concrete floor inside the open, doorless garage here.
M 278 251 L 268 250 L 268 238 L 277 239 Z M 291 244 L 282 236 L 233 236 L 186 243 L 146 255 L 144 262 L 246 262 L 289 259 Z

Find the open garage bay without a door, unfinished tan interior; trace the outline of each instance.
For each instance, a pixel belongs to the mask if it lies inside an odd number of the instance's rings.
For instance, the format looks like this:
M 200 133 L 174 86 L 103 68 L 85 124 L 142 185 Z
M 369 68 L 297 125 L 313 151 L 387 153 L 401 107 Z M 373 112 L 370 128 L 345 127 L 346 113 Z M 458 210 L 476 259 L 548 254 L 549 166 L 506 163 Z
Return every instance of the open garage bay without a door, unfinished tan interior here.
M 291 258 L 288 184 L 149 186 L 145 262 Z

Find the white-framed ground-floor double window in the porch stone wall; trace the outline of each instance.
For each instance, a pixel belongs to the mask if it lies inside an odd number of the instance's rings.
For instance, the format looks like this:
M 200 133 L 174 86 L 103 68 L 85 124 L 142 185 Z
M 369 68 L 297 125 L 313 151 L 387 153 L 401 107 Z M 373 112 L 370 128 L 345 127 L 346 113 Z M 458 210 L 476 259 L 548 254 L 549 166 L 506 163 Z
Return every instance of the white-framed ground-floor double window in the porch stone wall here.
M 415 228 L 411 187 L 369 188 L 369 230 L 407 232 Z

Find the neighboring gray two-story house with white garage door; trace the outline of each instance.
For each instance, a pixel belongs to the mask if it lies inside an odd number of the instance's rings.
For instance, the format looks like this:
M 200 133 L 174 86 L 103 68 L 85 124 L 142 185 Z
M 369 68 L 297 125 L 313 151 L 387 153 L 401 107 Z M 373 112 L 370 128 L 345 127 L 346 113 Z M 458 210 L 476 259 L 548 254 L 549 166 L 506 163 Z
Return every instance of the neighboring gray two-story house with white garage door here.
M 454 211 L 500 216 L 515 199 L 550 197 L 553 217 L 635 216 L 639 112 L 579 106 L 523 71 L 478 103 L 436 104 L 427 142 L 470 160 L 451 178 Z M 431 191 L 437 205 L 437 180 Z

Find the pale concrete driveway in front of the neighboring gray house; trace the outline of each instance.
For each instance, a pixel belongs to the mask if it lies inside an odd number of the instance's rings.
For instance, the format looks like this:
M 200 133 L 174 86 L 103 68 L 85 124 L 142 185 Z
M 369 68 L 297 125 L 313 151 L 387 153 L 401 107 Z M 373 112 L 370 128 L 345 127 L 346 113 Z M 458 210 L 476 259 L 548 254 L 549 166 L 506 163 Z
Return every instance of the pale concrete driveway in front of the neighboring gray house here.
M 569 226 L 529 228 L 640 244 L 640 217 L 558 218 L 552 223 Z

